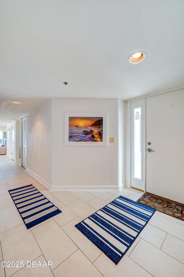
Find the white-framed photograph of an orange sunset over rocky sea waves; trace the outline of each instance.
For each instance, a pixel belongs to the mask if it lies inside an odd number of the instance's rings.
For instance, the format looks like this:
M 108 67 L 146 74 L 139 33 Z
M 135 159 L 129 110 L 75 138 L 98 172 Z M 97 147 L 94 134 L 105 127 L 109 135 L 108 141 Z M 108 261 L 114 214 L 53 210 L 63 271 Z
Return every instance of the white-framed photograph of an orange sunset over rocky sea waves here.
M 65 113 L 64 145 L 106 146 L 106 114 Z

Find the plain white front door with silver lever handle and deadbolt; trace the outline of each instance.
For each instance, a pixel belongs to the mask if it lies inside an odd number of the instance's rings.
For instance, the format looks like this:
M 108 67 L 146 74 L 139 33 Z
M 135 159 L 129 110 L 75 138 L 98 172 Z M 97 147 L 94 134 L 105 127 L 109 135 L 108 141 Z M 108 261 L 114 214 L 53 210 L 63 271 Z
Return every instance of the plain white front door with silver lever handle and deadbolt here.
M 146 191 L 184 203 L 184 89 L 146 98 Z M 150 143 L 148 145 L 147 143 Z

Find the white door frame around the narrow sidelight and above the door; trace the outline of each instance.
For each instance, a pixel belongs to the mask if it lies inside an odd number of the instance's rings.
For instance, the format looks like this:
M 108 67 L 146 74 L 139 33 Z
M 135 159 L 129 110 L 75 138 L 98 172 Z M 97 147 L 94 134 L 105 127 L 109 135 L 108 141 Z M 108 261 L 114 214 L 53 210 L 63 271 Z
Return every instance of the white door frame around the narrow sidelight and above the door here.
M 152 96 L 156 96 L 156 95 L 159 95 L 159 94 L 164 94 L 164 93 L 167 93 L 167 92 L 172 92 L 172 91 L 175 91 L 175 90 L 182 90 L 184 88 L 184 86 L 179 86 L 179 87 L 176 87 L 176 88 L 172 88 L 172 89 L 169 89 L 169 90 L 164 90 L 164 91 L 161 91 L 161 92 L 156 92 L 156 93 L 152 93 L 152 94 L 147 94 L 145 96 L 141 96 L 141 97 L 137 97 L 137 98 L 133 98 L 133 99 L 130 99 L 128 100 L 128 135 L 127 135 L 127 181 L 128 181 L 128 184 L 127 184 L 127 187 L 128 188 L 131 188 L 131 164 L 132 164 L 132 160 L 131 160 L 131 149 L 132 149 L 132 142 L 131 142 L 131 138 L 132 138 L 132 126 L 131 126 L 131 102 L 132 101 L 136 101 L 136 100 L 140 100 L 140 99 L 144 99 L 144 119 L 143 119 L 143 128 L 144 128 L 144 142 L 145 142 L 145 149 L 146 149 L 146 98 L 147 97 L 152 97 Z M 144 155 L 145 155 L 145 162 L 143 164 L 143 172 L 144 172 L 144 178 L 145 178 L 145 184 L 144 184 L 144 193 L 146 192 L 146 151 L 144 151 Z

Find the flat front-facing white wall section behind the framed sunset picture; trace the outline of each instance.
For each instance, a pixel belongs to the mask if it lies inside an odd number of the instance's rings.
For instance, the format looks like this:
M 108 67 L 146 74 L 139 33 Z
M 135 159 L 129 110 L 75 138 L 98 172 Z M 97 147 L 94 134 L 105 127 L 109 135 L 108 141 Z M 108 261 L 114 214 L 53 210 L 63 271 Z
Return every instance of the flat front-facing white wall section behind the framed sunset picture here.
M 107 146 L 64 146 L 65 112 L 107 113 Z M 118 99 L 52 99 L 52 190 L 118 190 L 118 155 Z

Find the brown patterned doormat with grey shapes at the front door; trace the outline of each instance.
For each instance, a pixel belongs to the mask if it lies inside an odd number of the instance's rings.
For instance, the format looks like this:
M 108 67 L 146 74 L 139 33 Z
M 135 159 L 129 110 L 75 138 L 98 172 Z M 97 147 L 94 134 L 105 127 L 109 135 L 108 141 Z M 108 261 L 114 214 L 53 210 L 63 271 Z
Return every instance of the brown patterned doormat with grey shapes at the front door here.
M 181 203 L 161 198 L 150 193 L 144 193 L 137 202 L 184 221 L 184 205 Z

